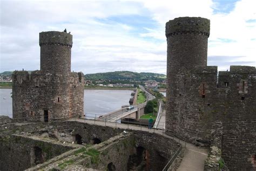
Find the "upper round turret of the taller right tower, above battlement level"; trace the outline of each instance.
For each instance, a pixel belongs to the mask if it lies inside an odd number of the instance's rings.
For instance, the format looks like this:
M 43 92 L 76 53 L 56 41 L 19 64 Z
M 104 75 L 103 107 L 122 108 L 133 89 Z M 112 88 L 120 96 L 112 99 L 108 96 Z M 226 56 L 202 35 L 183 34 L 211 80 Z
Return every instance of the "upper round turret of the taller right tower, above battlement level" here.
M 210 20 L 200 17 L 179 17 L 166 23 L 167 73 L 180 68 L 207 65 L 207 40 Z

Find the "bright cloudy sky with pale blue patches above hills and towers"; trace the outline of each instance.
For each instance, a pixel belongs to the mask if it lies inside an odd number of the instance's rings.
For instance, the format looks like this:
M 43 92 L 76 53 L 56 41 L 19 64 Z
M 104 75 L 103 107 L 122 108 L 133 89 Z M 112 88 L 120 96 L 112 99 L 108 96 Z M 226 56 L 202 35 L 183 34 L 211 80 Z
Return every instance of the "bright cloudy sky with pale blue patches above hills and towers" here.
M 1 0 L 0 72 L 40 69 L 39 32 L 73 35 L 71 70 L 166 74 L 165 23 L 211 20 L 208 65 L 256 66 L 255 0 Z

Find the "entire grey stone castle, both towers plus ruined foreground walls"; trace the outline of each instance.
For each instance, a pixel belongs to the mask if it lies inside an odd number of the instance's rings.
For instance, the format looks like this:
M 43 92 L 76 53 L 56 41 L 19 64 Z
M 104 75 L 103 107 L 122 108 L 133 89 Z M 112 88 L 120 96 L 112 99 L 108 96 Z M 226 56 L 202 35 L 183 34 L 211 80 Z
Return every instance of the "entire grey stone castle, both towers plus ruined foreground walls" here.
M 14 117 L 0 117 L 0 170 L 163 170 L 180 140 L 210 149 L 204 170 L 256 170 L 256 69 L 207 66 L 209 36 L 206 18 L 166 23 L 166 130 L 154 133 L 83 119 L 72 35 L 40 33 L 41 70 L 14 72 Z

